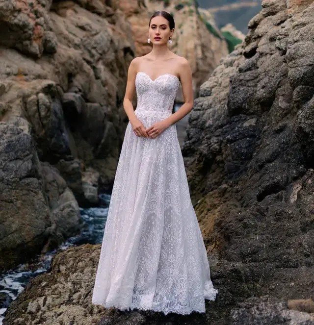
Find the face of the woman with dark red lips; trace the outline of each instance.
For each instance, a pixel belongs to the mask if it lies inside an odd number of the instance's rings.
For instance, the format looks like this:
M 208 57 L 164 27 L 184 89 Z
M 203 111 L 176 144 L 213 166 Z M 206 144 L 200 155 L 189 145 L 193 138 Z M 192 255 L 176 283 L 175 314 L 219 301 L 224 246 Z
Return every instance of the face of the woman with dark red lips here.
M 156 16 L 151 20 L 148 33 L 153 44 L 165 44 L 172 36 L 173 30 L 170 30 L 169 22 L 165 18 Z

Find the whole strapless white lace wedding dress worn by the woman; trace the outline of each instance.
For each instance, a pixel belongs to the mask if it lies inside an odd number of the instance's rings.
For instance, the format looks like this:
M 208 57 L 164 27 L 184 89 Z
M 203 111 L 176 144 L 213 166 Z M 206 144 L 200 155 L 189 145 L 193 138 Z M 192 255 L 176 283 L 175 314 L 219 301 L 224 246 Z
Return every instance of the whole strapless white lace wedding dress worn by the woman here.
M 134 111 L 147 128 L 172 114 L 180 81 L 139 72 Z M 218 290 L 210 280 L 176 125 L 155 139 L 127 125 L 116 170 L 92 303 L 190 314 Z

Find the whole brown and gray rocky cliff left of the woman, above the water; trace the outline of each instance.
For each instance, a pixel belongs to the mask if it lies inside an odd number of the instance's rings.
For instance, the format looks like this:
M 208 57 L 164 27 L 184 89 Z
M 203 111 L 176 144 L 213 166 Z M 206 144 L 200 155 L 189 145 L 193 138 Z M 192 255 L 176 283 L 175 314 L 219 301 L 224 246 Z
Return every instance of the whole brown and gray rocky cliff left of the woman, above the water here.
M 2 270 L 76 233 L 78 203 L 110 188 L 135 52 L 101 1 L 2 1 L 0 30 Z

